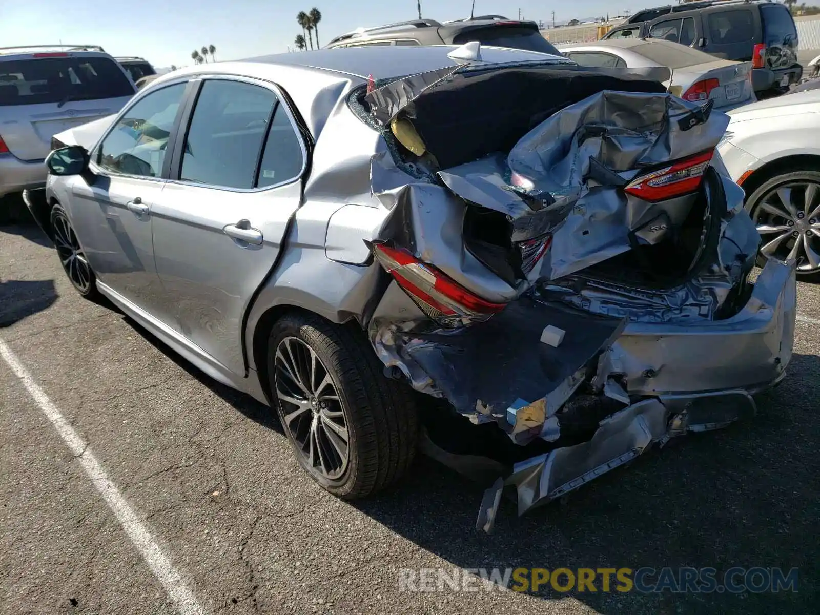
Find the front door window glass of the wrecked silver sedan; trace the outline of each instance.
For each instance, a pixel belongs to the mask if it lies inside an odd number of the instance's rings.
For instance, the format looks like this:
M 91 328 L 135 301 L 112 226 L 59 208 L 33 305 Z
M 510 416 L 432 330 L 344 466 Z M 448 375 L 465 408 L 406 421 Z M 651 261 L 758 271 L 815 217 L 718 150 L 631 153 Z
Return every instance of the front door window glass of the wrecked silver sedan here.
M 186 85 L 157 89 L 130 107 L 100 144 L 98 165 L 112 173 L 162 175 L 168 139 Z

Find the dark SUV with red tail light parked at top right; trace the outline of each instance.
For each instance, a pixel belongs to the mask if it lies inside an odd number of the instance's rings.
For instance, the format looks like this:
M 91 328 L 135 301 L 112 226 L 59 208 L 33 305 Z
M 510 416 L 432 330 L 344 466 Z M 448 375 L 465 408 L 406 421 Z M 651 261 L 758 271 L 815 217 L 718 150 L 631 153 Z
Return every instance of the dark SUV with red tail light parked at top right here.
M 758 98 L 788 92 L 803 75 L 797 62 L 795 20 L 785 5 L 768 0 L 648 8 L 610 30 L 604 39 L 665 39 L 724 60 L 752 62 Z

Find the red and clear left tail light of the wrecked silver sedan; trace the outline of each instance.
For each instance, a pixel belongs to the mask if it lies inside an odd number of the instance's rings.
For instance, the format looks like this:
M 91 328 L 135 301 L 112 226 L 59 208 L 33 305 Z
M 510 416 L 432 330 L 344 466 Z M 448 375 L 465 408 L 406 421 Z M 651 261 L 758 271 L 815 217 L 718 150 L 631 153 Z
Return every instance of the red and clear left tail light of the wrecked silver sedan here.
M 506 303 L 492 303 L 467 290 L 443 272 L 421 262 L 408 250 L 370 244 L 373 255 L 428 317 L 441 326 L 482 322 L 501 312 Z

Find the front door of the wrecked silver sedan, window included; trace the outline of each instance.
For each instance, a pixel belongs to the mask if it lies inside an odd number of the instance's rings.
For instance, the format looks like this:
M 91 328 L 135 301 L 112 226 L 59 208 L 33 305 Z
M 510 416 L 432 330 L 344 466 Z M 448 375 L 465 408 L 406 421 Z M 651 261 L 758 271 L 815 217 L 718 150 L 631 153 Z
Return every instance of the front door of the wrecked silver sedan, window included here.
M 185 85 L 158 89 L 125 111 L 94 149 L 93 175 L 75 180 L 70 212 L 99 280 L 169 324 L 174 315 L 161 309 L 151 216 Z

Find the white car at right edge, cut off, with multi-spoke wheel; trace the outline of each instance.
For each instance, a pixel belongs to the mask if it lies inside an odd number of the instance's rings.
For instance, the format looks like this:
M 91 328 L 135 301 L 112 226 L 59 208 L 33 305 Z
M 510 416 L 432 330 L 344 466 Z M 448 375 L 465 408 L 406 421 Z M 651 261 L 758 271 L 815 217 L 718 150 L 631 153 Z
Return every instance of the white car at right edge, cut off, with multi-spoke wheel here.
M 718 145 L 766 257 L 796 260 L 799 276 L 820 273 L 820 90 L 770 98 L 729 113 Z

